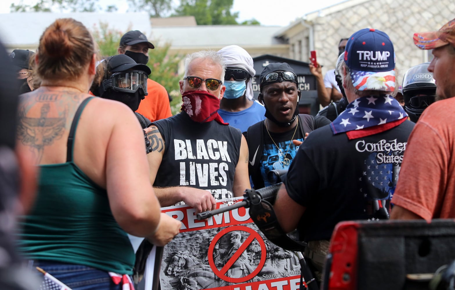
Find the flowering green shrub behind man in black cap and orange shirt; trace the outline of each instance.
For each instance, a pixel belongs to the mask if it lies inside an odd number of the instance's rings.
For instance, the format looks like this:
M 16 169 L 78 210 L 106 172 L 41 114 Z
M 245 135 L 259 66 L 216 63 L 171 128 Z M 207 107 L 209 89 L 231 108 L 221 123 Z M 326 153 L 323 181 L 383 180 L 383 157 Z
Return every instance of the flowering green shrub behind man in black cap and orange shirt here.
M 126 31 L 129 30 L 131 29 L 128 28 Z M 117 48 L 124 33 L 110 29 L 107 23 L 100 23 L 100 28 L 92 31 L 93 38 L 97 42 L 103 58 L 117 54 Z M 177 71 L 183 56 L 170 54 L 170 43 L 161 44 L 159 40 L 150 40 L 150 42 L 155 45 L 155 49 L 149 50 L 148 54 L 147 66 L 152 70 L 149 78 L 164 86 L 173 97 L 171 110 L 173 114 L 176 114 L 181 105 L 178 81 L 182 79 L 182 75 L 179 75 Z

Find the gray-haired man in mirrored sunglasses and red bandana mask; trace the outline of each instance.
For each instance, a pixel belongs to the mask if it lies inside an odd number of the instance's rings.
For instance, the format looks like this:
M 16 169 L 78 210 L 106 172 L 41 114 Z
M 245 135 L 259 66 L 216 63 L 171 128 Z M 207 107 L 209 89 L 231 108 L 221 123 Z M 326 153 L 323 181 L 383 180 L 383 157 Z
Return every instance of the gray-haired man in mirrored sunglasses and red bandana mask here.
M 218 115 L 225 65 L 215 51 L 187 56 L 180 80 L 182 112 L 148 129 L 152 184 L 162 206 L 183 201 L 196 212 L 250 188 L 248 147 L 240 130 Z

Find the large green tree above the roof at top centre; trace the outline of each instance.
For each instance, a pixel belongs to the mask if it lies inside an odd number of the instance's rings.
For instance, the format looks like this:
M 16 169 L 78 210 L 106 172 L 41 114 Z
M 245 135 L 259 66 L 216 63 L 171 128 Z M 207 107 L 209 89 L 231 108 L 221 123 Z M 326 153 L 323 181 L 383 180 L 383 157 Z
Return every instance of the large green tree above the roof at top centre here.
M 192 15 L 198 25 L 238 24 L 238 12 L 231 13 L 233 0 L 180 0 L 174 15 Z

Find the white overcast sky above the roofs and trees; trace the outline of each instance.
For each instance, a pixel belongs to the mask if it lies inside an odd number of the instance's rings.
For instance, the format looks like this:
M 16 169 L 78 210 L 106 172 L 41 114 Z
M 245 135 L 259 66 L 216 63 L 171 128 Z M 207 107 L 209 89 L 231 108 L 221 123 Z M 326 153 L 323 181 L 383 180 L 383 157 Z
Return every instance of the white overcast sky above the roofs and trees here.
M 25 4 L 35 4 L 37 0 L 23 0 Z M 179 3 L 178 0 L 174 0 Z M 18 0 L 2 0 L 0 13 L 9 13 L 11 3 L 20 3 Z M 238 22 L 255 18 L 262 25 L 286 26 L 298 17 L 319 10 L 343 0 L 234 0 L 233 12 L 239 12 Z M 100 0 L 104 3 L 116 5 L 118 12 L 125 12 L 128 8 L 126 0 Z

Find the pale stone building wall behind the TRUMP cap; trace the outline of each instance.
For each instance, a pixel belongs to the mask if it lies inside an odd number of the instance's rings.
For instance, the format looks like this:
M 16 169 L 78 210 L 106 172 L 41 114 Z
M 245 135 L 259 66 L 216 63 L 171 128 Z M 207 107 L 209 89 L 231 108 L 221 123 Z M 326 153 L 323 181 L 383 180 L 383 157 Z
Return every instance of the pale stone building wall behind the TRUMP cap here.
M 344 7 L 349 6 L 349 2 L 344 2 Z M 324 10 L 320 12 L 324 13 Z M 431 51 L 420 50 L 414 45 L 414 33 L 439 30 L 454 18 L 453 0 L 370 0 L 307 20 L 314 25 L 314 47 L 319 63 L 324 65 L 324 73 L 335 67 L 341 38 L 363 28 L 374 28 L 387 33 L 394 43 L 401 83 L 406 70 L 428 61 L 428 55 L 431 58 Z

